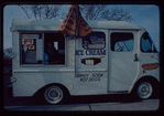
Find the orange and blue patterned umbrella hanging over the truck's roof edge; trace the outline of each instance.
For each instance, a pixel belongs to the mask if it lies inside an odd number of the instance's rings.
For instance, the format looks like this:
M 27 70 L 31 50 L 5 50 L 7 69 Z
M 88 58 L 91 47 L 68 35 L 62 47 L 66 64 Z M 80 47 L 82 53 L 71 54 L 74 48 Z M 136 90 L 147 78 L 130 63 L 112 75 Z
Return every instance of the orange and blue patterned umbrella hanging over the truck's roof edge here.
M 72 4 L 58 31 L 65 36 L 86 36 L 92 30 L 81 17 L 78 4 Z

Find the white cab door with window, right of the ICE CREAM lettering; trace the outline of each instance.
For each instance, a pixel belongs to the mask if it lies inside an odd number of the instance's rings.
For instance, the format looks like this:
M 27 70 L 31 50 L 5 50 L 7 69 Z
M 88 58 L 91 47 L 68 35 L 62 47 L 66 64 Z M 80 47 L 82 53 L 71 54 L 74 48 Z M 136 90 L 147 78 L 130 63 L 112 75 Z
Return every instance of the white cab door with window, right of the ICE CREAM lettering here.
M 109 31 L 109 92 L 128 92 L 139 74 L 139 31 Z

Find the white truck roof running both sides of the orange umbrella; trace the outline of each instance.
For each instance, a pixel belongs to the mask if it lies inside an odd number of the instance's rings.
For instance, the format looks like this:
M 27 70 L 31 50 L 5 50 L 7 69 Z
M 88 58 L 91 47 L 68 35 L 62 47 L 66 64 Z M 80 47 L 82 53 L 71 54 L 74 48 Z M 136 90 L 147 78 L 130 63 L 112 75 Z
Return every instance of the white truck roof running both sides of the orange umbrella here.
M 11 31 L 14 30 L 58 30 L 63 20 L 50 19 L 13 19 Z M 86 21 L 92 29 L 145 30 L 125 21 Z

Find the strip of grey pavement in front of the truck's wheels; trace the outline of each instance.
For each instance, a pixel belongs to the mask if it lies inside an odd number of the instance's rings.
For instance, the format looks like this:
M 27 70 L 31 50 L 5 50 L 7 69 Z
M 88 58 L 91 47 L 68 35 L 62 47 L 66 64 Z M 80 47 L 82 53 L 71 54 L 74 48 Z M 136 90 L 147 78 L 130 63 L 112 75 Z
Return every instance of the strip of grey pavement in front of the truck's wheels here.
M 94 103 L 41 106 L 4 106 L 7 110 L 157 110 L 158 99 L 146 99 L 139 103 Z

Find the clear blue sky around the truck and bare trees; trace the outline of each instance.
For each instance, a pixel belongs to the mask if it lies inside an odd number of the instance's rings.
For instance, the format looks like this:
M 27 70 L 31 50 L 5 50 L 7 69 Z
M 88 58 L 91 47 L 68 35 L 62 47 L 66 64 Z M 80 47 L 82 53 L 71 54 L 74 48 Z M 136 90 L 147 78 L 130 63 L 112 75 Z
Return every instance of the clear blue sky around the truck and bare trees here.
M 157 51 L 160 51 L 160 9 L 155 4 L 109 4 L 108 8 L 122 8 L 130 11 L 134 19 L 131 23 L 143 27 L 150 33 Z M 64 4 L 61 12 L 67 13 L 69 4 Z M 3 8 L 3 49 L 12 48 L 12 32 L 10 27 L 13 19 L 28 19 L 19 6 Z

